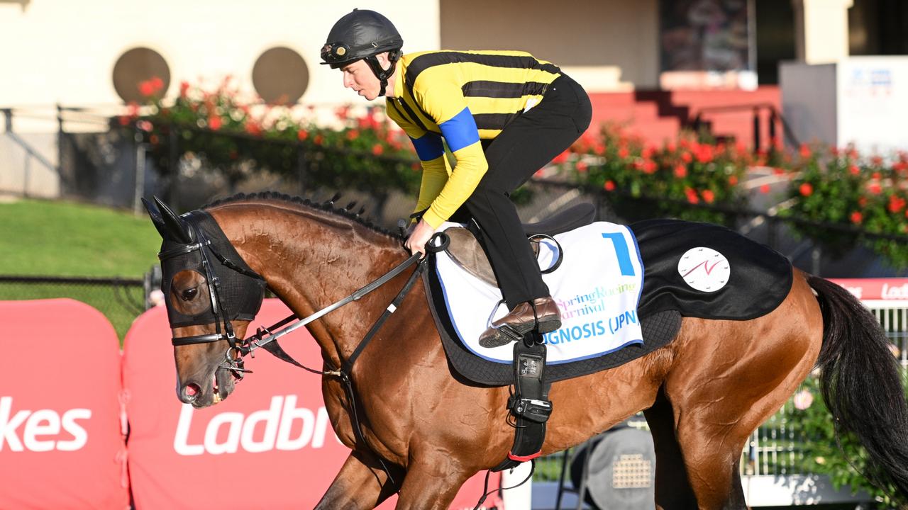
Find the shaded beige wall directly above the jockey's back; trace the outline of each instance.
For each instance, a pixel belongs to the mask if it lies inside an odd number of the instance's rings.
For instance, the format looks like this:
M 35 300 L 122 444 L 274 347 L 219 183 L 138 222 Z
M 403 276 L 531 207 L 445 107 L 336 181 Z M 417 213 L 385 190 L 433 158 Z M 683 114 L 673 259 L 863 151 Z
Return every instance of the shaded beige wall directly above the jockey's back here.
M 588 92 L 658 85 L 656 0 L 439 1 L 444 49 L 528 51 Z

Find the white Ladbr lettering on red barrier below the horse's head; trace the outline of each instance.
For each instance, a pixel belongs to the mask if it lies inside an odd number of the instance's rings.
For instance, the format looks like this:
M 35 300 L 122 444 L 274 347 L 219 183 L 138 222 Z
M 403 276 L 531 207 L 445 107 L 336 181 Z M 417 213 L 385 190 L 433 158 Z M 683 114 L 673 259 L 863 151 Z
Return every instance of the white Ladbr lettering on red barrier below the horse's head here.
M 296 407 L 295 395 L 271 397 L 267 409 L 253 411 L 248 416 L 238 412 L 214 415 L 207 424 L 194 420 L 195 411 L 189 404 L 180 410 L 173 450 L 181 456 L 203 454 L 232 454 L 242 450 L 261 453 L 271 450 L 299 450 L 306 446 L 321 448 L 334 434 L 324 407 L 313 412 L 307 407 Z M 202 433 L 202 427 L 203 433 Z M 190 437 L 202 434 L 202 441 Z

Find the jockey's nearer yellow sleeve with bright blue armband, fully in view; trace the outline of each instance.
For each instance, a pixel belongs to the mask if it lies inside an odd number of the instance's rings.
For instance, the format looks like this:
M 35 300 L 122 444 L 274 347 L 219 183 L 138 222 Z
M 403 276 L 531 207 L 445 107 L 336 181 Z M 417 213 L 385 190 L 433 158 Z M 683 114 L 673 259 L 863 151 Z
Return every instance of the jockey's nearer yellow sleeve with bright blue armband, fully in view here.
M 422 110 L 439 124 L 441 135 L 457 159 L 447 182 L 422 217 L 432 228 L 438 228 L 476 190 L 482 176 L 489 170 L 489 163 L 479 143 L 476 121 L 458 87 L 432 85 L 429 88 L 418 80 L 413 97 Z

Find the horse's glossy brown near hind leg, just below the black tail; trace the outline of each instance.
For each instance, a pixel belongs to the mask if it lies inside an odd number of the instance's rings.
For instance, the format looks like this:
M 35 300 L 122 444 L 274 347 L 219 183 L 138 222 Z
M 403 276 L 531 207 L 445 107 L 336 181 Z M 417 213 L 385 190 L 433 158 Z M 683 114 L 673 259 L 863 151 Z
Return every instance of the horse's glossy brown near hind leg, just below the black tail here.
M 798 276 L 761 318 L 685 321 L 665 391 L 688 480 L 699 508 L 743 509 L 741 452 L 813 367 L 823 337 L 819 306 Z

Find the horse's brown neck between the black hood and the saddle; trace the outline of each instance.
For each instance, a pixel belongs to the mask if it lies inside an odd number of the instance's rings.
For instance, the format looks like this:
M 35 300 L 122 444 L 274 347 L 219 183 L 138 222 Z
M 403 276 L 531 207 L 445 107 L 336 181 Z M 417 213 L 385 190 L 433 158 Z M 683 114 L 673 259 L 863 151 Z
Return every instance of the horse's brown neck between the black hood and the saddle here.
M 269 212 L 238 221 L 245 235 L 227 235 L 298 317 L 349 296 L 405 258 L 393 240 L 341 217 L 280 208 Z M 393 295 L 386 294 L 391 290 L 378 289 L 307 326 L 329 364 L 336 367 L 349 358 L 390 303 Z

